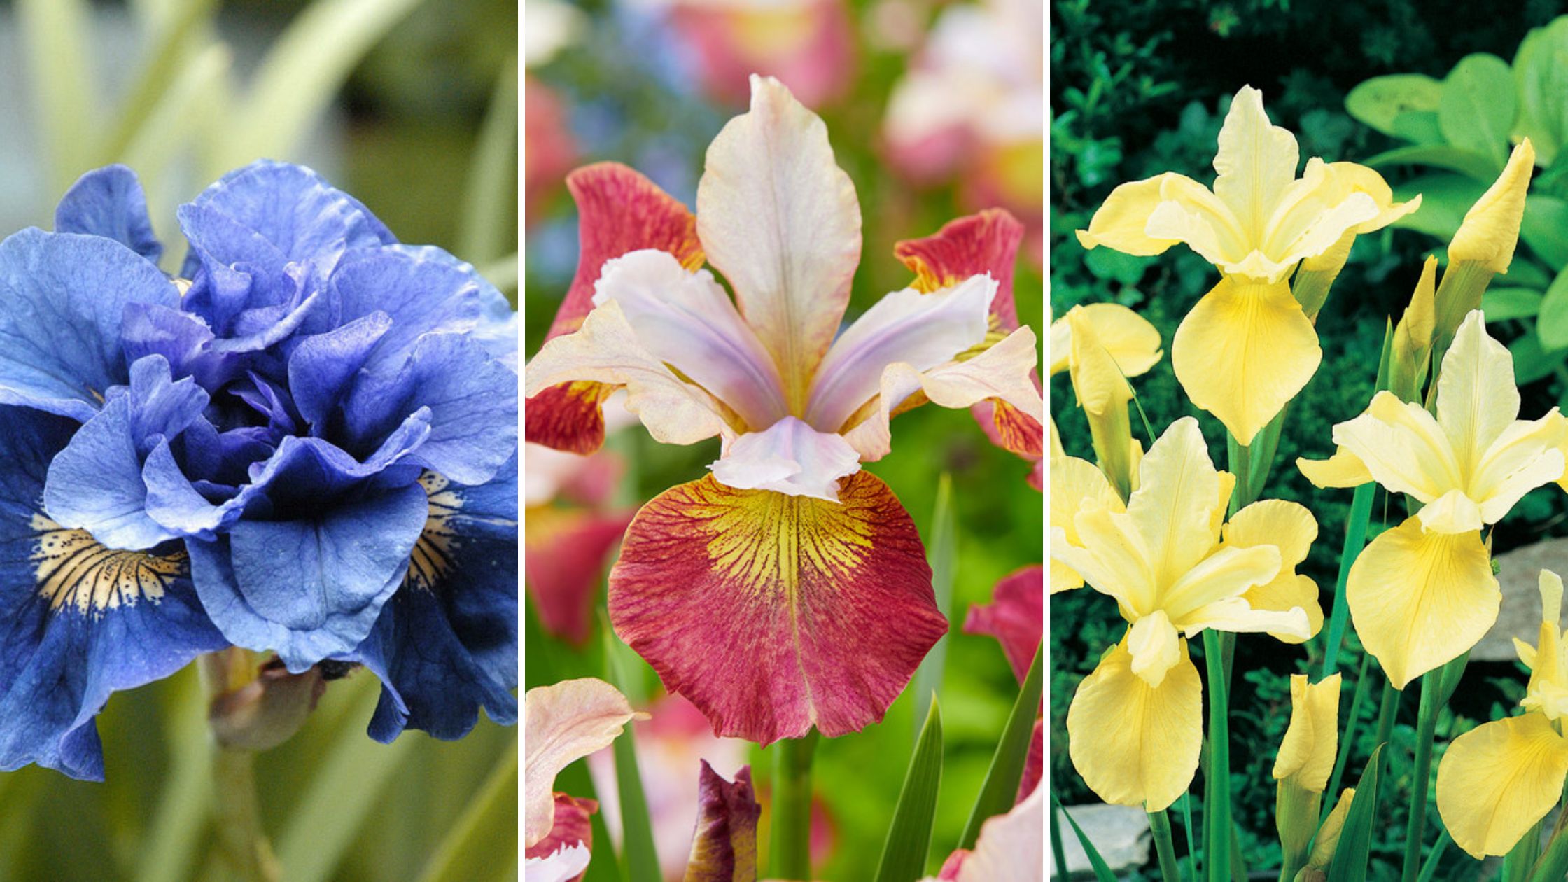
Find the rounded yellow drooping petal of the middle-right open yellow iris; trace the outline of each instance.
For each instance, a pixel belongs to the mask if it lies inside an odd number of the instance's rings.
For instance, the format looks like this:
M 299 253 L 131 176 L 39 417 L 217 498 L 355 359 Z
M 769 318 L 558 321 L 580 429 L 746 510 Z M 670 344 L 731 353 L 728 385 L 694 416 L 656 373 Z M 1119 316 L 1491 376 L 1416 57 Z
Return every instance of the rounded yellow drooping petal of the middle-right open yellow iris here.
M 1502 592 L 1480 534 L 1428 532 L 1410 518 L 1366 546 L 1345 601 L 1363 645 L 1403 689 L 1480 642 Z

